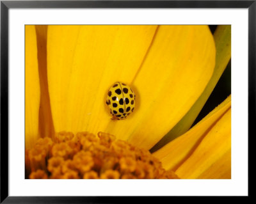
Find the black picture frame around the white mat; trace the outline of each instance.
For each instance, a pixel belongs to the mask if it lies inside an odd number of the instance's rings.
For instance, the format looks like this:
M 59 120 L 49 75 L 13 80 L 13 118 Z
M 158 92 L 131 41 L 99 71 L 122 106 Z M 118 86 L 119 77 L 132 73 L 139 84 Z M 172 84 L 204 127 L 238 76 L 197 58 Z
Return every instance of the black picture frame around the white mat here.
M 9 196 L 8 13 L 10 8 L 248 8 L 248 136 L 255 136 L 256 1 L 1 1 L 1 203 L 126 203 L 134 200 L 134 197 L 124 198 L 122 196 Z M 250 137 L 248 138 L 250 139 Z M 249 150 L 252 148 L 249 147 Z M 248 195 L 250 197 L 250 189 Z M 158 199 L 153 197 L 150 198 L 150 201 L 157 202 Z M 186 199 L 193 202 L 196 198 L 186 197 Z M 142 202 L 145 201 L 145 198 L 137 197 L 136 201 Z

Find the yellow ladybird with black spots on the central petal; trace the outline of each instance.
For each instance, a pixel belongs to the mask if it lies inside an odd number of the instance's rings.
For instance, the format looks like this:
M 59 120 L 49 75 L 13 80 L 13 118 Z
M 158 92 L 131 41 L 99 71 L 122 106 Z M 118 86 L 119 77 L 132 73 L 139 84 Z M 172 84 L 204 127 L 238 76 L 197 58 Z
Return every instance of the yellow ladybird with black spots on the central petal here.
M 108 91 L 107 102 L 112 119 L 125 119 L 134 111 L 135 94 L 131 87 L 123 82 L 115 82 Z

